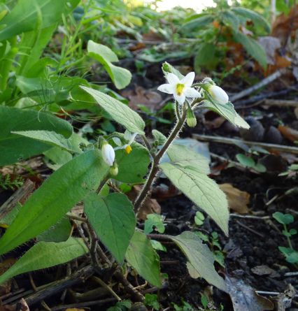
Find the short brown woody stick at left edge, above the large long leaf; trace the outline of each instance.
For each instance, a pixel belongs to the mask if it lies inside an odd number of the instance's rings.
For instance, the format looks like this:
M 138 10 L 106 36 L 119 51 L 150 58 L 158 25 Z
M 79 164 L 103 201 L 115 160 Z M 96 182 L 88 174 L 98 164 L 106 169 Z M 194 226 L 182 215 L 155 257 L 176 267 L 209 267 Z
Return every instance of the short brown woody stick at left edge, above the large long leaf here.
M 27 197 L 34 191 L 34 182 L 31 182 L 31 180 L 26 180 L 24 182 L 24 185 L 20 187 L 20 189 L 17 189 L 15 193 L 8 198 L 8 200 L 3 203 L 0 207 L 0 219 L 3 218 L 10 212 L 10 210 L 13 210 L 15 205 L 17 205 L 18 202 L 24 201 L 27 199 Z

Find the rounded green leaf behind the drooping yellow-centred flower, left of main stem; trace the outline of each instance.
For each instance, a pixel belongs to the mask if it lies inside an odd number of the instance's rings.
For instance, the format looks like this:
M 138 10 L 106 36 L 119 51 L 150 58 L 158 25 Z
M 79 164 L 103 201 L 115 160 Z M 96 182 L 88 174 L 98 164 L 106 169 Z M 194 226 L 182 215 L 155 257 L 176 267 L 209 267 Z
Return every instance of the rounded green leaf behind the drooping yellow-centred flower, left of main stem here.
M 118 175 L 115 180 L 120 182 L 138 183 L 143 182 L 148 173 L 150 155 L 148 150 L 139 143 L 132 143 L 132 152 L 127 154 L 125 150 L 116 150 L 116 161 L 118 164 Z

